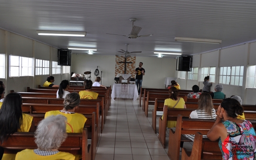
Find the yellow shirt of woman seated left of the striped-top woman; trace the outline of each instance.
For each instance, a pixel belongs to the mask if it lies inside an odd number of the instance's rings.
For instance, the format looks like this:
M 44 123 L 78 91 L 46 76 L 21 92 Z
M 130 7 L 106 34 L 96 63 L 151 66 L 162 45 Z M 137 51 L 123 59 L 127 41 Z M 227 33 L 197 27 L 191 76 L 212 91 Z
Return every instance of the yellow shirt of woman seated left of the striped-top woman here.
M 177 101 L 175 100 L 172 100 L 171 98 L 167 98 L 165 100 L 165 103 L 164 105 L 167 105 L 168 108 L 172 108 L 173 106 L 175 106 L 177 103 Z M 175 108 L 184 108 L 184 104 L 185 104 L 185 101 L 183 98 L 180 97 L 179 101 L 178 101 L 178 104 L 175 106 Z M 162 117 L 163 118 L 163 117 Z M 176 127 L 176 123 L 177 121 L 170 121 L 168 120 L 167 121 L 167 128 L 173 128 L 173 127 Z

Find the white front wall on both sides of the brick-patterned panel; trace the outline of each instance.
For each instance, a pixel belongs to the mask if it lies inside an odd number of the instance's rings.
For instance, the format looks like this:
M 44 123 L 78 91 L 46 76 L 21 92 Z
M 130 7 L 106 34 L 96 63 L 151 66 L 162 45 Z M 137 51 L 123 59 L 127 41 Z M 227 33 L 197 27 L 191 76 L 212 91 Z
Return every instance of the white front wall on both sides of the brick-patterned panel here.
M 173 58 L 152 58 L 136 57 L 136 67 L 143 62 L 145 75 L 143 76 L 143 87 L 165 88 L 165 77 L 174 77 L 176 60 Z M 91 80 L 94 82 L 96 76 L 94 71 L 98 66 L 102 71 L 102 85 L 112 86 L 115 77 L 115 56 L 114 55 L 89 55 L 72 54 L 71 72 L 83 74 L 91 71 Z M 87 75 L 85 75 L 87 77 Z M 100 76 L 100 75 L 99 75 Z

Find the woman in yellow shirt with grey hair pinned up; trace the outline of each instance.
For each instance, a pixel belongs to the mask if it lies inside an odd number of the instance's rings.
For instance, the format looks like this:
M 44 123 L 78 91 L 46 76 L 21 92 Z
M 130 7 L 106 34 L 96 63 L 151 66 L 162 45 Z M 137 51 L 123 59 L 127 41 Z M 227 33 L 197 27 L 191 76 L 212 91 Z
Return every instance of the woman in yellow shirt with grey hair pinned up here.
M 67 94 L 64 98 L 63 104 L 64 108 L 62 110 L 46 112 L 45 118 L 52 115 L 65 116 L 67 117 L 67 133 L 82 133 L 87 118 L 80 113 L 75 113 L 75 110 L 80 104 L 80 97 L 78 93 L 72 92 Z

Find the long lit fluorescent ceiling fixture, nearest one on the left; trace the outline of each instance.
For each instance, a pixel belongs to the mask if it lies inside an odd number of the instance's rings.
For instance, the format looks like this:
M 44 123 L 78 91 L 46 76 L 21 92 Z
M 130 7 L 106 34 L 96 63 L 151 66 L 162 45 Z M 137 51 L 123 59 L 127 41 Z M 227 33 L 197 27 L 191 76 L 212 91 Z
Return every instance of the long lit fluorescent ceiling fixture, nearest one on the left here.
M 56 35 L 56 36 L 76 36 L 84 37 L 86 32 L 66 32 L 66 31 L 36 31 L 38 35 Z

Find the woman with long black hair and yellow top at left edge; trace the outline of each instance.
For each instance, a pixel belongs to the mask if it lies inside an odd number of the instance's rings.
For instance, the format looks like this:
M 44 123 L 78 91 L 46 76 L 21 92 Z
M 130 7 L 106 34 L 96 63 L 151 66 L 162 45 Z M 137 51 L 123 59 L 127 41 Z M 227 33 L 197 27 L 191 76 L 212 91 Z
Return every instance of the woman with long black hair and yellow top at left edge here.
M 8 94 L 0 109 L 0 144 L 14 132 L 33 132 L 33 117 L 22 113 L 22 97 L 18 93 Z M 2 160 L 14 160 L 16 154 L 4 154 Z

